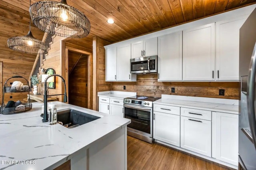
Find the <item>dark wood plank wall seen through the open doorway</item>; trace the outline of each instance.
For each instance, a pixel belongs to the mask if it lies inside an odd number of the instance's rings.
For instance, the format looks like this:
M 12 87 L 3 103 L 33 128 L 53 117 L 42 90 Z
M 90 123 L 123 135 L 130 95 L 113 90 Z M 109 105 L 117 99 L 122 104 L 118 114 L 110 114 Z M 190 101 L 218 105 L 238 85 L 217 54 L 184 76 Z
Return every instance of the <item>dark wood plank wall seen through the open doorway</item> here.
M 88 56 L 70 51 L 68 52 L 68 63 L 68 102 L 88 108 Z

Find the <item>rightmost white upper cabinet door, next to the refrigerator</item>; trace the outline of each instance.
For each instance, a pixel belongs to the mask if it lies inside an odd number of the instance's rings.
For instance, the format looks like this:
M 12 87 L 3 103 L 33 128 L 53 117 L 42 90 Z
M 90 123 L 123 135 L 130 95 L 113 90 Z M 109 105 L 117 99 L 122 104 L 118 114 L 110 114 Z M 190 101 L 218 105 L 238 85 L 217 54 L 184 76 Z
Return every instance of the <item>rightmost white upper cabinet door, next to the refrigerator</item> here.
M 245 20 L 216 22 L 216 80 L 239 80 L 239 29 Z

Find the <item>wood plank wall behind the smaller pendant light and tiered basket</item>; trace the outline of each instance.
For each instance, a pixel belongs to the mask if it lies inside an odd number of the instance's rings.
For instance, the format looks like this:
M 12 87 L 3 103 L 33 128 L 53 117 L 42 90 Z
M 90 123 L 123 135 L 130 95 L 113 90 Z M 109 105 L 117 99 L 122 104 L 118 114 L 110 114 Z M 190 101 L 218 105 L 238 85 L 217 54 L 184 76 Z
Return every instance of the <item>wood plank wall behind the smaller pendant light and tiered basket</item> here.
M 2 62 L 2 82 L 12 76 L 23 76 L 28 79 L 32 70 L 36 55 L 25 54 L 8 48 L 7 40 L 15 36 L 25 36 L 29 31 L 29 12 L 28 9 L 19 8 L 11 2 L 0 0 L 0 61 Z M 35 38 L 42 40 L 44 32 L 31 24 L 31 31 Z M 14 81 L 26 83 L 24 79 L 11 79 L 8 86 Z M 2 88 L 0 89 L 2 91 Z M 12 96 L 12 98 L 10 98 Z M 2 95 L 1 95 L 2 97 Z M 9 100 L 16 102 L 27 97 L 27 93 L 6 93 L 4 103 Z M 2 100 L 0 100 L 2 103 Z

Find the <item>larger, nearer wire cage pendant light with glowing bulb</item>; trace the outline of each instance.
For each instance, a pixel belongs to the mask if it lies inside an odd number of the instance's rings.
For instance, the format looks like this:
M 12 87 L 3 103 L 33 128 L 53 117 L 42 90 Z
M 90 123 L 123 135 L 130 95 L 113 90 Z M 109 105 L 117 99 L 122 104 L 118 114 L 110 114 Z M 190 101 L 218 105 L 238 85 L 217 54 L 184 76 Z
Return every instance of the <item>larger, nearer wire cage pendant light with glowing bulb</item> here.
M 35 26 L 44 32 L 69 38 L 84 38 L 90 33 L 90 21 L 66 0 L 38 1 L 29 8 Z

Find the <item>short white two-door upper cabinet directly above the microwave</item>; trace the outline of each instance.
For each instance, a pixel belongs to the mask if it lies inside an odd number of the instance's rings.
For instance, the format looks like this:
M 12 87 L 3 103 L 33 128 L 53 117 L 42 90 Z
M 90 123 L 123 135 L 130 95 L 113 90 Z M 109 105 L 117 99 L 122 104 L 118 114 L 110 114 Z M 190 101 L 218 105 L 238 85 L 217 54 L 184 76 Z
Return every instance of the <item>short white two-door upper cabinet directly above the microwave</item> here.
M 133 42 L 132 58 L 156 56 L 157 55 L 157 37 L 143 41 Z

